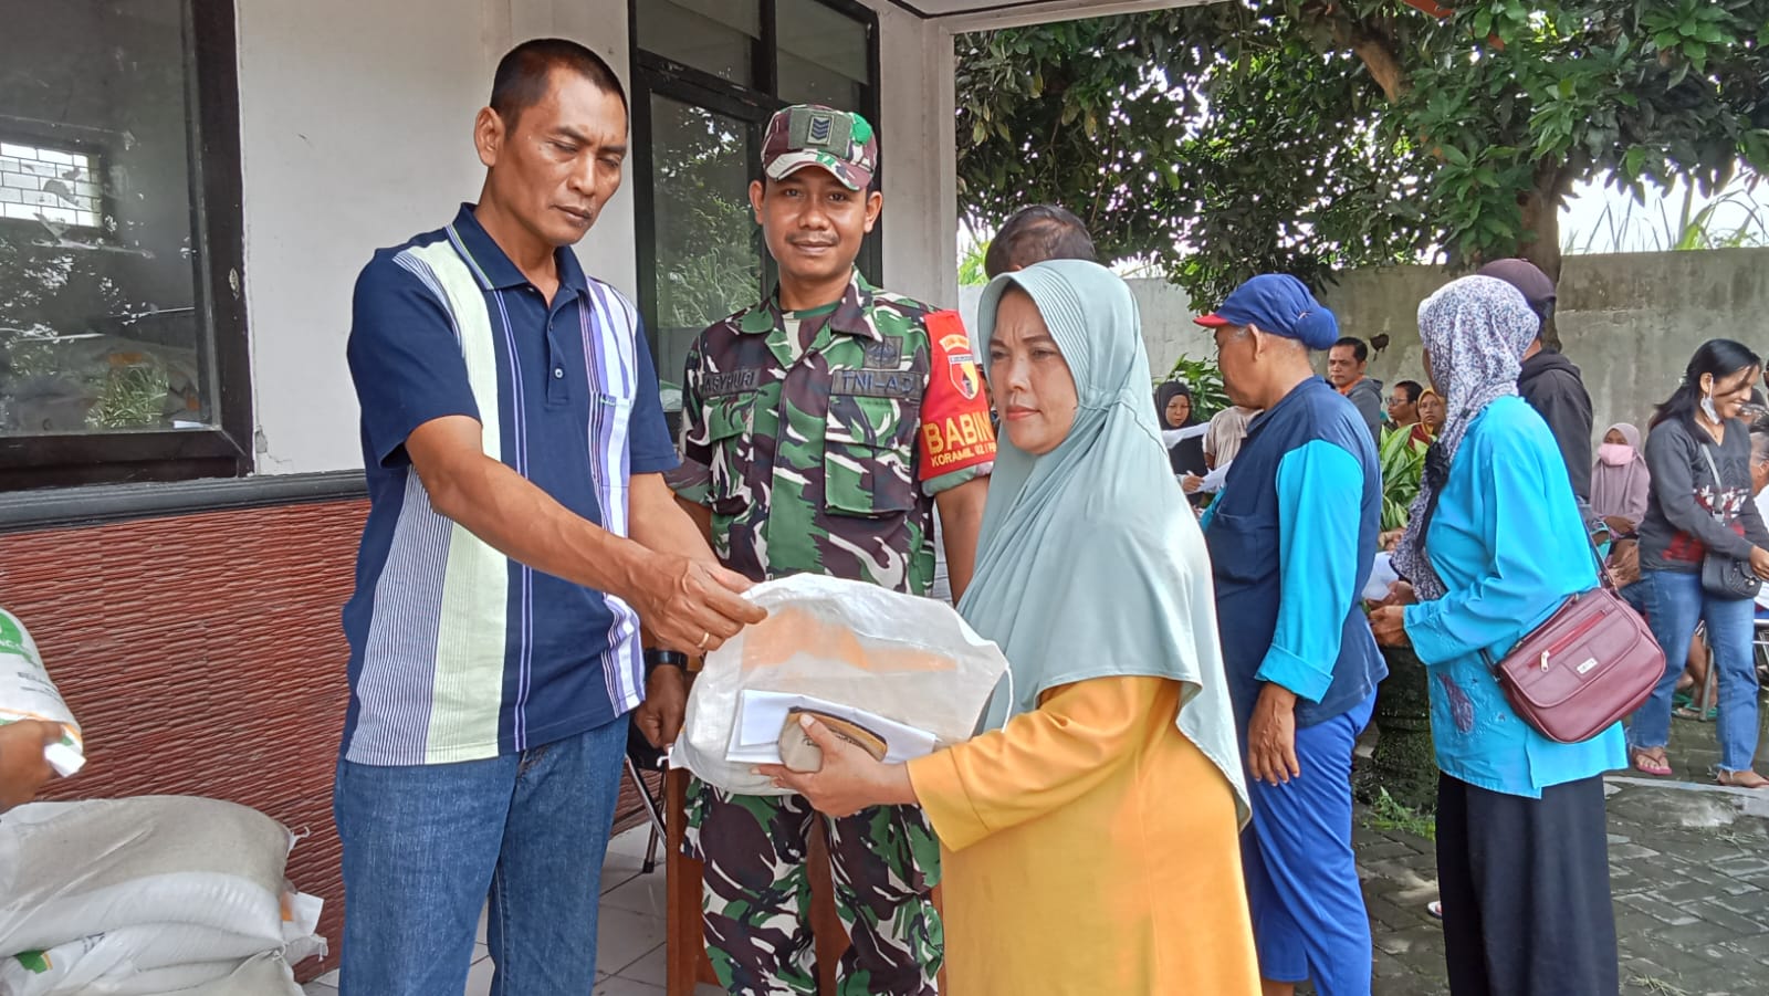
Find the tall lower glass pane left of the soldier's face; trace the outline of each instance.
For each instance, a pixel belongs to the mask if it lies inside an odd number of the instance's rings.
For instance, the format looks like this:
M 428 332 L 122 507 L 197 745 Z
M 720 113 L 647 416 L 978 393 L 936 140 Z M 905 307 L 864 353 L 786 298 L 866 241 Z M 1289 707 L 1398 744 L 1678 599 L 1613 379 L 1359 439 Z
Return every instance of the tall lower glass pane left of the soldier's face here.
M 651 97 L 658 377 L 681 380 L 688 345 L 761 299 L 762 241 L 750 211 L 759 129 L 681 101 Z

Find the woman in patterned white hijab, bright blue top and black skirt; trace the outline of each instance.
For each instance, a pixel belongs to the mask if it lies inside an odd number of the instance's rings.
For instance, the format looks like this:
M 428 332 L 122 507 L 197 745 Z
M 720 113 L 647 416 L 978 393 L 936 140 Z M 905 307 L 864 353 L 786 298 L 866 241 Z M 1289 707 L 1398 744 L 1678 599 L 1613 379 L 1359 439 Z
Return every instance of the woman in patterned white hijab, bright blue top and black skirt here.
M 1470 276 L 1419 306 L 1449 421 L 1426 455 L 1376 640 L 1412 644 L 1431 686 L 1438 888 L 1452 996 L 1615 996 L 1603 771 L 1620 724 L 1555 743 L 1518 718 L 1488 660 L 1597 584 L 1560 448 L 1518 398 L 1539 320 L 1509 283 Z

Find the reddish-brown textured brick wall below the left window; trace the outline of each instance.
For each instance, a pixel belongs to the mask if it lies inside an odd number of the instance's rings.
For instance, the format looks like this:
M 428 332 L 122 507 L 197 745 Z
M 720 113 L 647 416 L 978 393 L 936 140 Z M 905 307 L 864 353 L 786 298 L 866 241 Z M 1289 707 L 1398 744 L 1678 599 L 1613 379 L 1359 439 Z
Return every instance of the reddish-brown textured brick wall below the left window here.
M 0 605 L 80 718 L 88 764 L 46 798 L 198 794 L 304 833 L 288 879 L 343 927 L 333 775 L 348 688 L 340 609 L 368 502 L 0 534 Z M 621 824 L 637 823 L 623 791 Z

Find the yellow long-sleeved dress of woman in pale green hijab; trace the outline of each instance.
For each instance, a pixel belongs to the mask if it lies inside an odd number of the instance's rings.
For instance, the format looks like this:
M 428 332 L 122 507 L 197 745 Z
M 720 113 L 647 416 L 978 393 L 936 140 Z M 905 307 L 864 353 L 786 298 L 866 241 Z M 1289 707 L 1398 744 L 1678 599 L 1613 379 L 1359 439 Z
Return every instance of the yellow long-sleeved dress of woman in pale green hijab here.
M 916 759 L 952 996 L 1258 996 L 1228 778 L 1178 683 L 1095 678 Z

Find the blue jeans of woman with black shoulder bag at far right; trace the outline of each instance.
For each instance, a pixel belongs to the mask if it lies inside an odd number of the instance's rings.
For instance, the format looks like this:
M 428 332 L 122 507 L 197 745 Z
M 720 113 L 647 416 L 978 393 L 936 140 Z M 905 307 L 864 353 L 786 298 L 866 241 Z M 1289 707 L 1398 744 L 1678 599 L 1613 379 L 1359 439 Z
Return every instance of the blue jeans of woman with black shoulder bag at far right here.
M 1645 589 L 1652 637 L 1665 649 L 1665 678 L 1635 713 L 1627 743 L 1650 750 L 1670 741 L 1670 697 L 1689 658 L 1695 626 L 1707 621 L 1707 646 L 1719 674 L 1719 770 L 1748 771 L 1757 755 L 1757 603 L 1712 598 L 1702 591 L 1702 575 L 1684 571 L 1642 571 L 1638 587 Z

